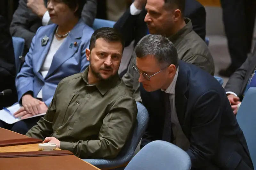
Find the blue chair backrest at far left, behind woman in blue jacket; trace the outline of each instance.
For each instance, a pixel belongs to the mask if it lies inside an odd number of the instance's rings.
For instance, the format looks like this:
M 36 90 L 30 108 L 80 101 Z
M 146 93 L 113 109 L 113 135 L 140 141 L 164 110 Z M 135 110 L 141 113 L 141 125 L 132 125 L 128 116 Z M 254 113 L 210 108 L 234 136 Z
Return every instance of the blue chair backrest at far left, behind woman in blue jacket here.
M 20 37 L 12 37 L 12 45 L 13 45 L 13 49 L 14 49 L 16 74 L 18 74 L 20 72 L 20 67 L 21 67 L 21 57 L 20 56 L 22 56 L 22 54 L 23 54 L 25 40 Z

